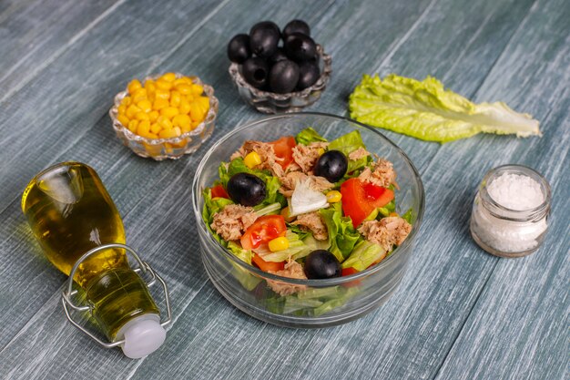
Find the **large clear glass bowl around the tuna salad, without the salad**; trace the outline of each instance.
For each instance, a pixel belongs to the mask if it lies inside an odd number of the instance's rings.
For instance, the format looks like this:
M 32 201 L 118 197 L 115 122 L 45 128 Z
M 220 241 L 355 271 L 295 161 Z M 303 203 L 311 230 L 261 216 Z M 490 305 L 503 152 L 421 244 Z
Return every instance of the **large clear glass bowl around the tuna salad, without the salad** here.
M 316 129 L 329 140 L 358 129 L 366 148 L 391 160 L 397 170 L 400 190 L 396 191 L 396 211 L 402 214 L 412 209 L 412 231 L 390 256 L 363 272 L 327 280 L 296 280 L 261 272 L 227 251 L 202 220 L 202 191 L 218 178 L 221 161 L 228 161 L 229 155 L 247 139 L 275 140 L 296 135 L 306 127 Z M 202 262 L 219 293 L 243 312 L 271 324 L 324 327 L 359 318 L 380 306 L 394 292 L 412 255 L 412 243 L 422 222 L 424 193 L 422 180 L 410 159 L 378 130 L 349 118 L 297 113 L 263 118 L 219 139 L 199 163 L 192 184 L 192 202 Z M 297 285 L 303 290 L 280 296 L 270 290 L 268 281 Z

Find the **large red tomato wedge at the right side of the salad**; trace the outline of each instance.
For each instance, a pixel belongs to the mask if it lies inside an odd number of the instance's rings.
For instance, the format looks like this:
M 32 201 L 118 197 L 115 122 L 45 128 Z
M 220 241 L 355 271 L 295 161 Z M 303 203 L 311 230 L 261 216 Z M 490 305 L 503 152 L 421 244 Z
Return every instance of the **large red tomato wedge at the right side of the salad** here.
M 341 185 L 342 211 L 350 216 L 354 228 L 361 225 L 375 209 L 383 207 L 394 199 L 390 189 L 362 182 L 357 178 L 345 180 Z

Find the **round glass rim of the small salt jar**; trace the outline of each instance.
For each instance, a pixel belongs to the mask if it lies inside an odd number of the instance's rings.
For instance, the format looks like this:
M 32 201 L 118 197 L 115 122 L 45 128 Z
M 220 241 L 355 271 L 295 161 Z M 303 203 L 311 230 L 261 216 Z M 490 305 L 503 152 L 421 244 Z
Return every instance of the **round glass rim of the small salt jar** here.
M 545 200 L 540 205 L 528 210 L 509 209 L 508 207 L 504 207 L 502 204 L 498 203 L 491 197 L 489 191 L 487 191 L 487 184 L 492 177 L 496 176 L 497 173 L 504 171 L 526 172 L 533 174 L 539 180 L 539 185 L 545 189 Z M 479 193 L 485 202 L 483 207 L 485 207 L 487 211 L 491 212 L 496 218 L 502 218 L 509 221 L 537 220 L 544 218 L 545 214 L 550 211 L 550 201 L 552 198 L 550 184 L 538 171 L 524 165 L 506 164 L 490 169 L 485 173 L 483 180 L 481 181 Z

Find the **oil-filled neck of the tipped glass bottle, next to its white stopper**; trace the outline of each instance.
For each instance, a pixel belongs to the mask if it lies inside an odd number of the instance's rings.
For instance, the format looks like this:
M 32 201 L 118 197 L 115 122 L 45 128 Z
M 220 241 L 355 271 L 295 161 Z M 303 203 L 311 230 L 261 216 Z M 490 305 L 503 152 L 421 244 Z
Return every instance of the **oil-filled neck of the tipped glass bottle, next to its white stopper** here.
M 160 315 L 143 279 L 128 267 L 99 272 L 84 285 L 87 302 L 102 332 L 114 341 L 119 329 L 143 314 Z

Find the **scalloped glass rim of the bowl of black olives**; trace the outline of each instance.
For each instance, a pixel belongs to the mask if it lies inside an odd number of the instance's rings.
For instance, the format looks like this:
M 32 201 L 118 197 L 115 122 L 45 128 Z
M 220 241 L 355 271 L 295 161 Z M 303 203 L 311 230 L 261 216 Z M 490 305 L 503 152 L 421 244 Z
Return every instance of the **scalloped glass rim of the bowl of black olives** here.
M 255 98 L 271 98 L 273 100 L 289 100 L 290 98 L 307 98 L 310 96 L 310 93 L 314 90 L 320 90 L 327 84 L 329 81 L 329 77 L 331 77 L 332 72 L 332 58 L 330 55 L 324 52 L 324 49 L 321 45 L 317 44 L 317 54 L 321 57 L 323 68 L 321 77 L 317 79 L 317 81 L 310 87 L 304 88 L 300 91 L 290 92 L 287 94 L 278 94 L 275 92 L 270 91 L 263 91 L 259 88 L 251 86 L 248 81 L 241 75 L 239 72 L 239 67 L 241 65 L 232 62 L 229 65 L 229 76 L 231 79 L 236 83 L 239 87 L 248 88 L 251 94 Z

